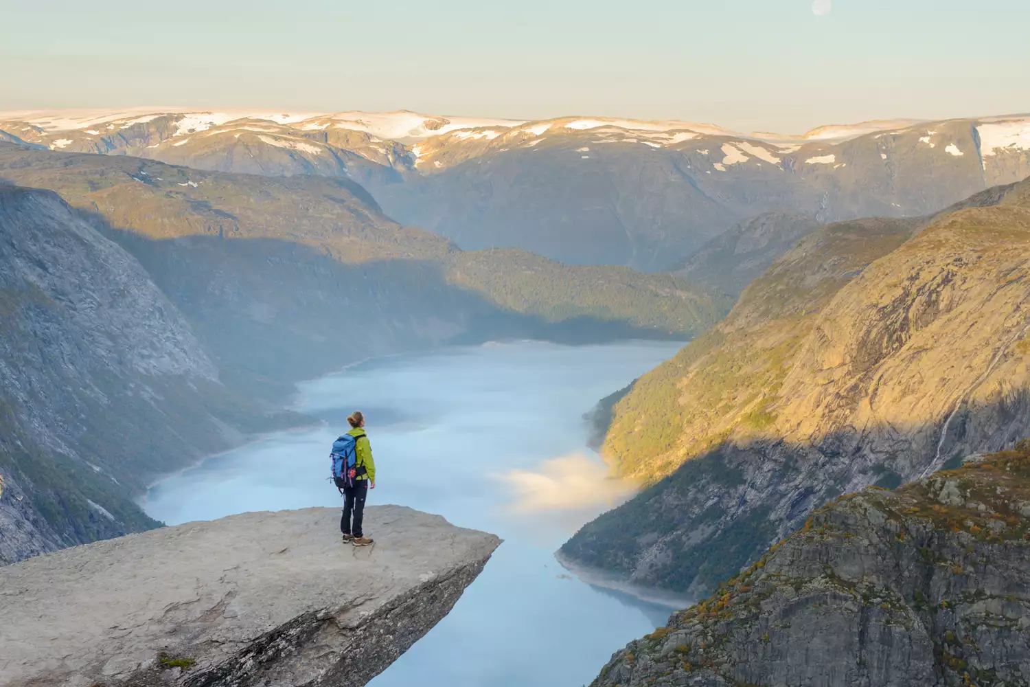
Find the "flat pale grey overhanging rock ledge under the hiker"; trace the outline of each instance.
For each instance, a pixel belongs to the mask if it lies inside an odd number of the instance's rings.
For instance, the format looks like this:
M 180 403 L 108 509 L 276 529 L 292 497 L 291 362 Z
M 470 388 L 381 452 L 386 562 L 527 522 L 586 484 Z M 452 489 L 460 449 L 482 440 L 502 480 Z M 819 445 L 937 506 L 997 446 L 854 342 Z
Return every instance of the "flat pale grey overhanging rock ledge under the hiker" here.
M 7 687 L 359 686 L 439 622 L 501 544 L 399 506 L 244 513 L 0 568 Z

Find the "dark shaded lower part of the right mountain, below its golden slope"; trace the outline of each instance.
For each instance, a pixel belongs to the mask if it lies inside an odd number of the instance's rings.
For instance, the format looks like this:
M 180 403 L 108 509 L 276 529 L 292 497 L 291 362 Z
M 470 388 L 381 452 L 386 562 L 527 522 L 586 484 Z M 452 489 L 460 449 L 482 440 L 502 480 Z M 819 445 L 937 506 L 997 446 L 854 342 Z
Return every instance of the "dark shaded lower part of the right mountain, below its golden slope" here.
M 960 408 L 938 460 L 945 421 L 842 427 L 816 445 L 723 443 L 584 525 L 560 555 L 631 584 L 698 597 L 843 493 L 894 488 L 927 468 L 953 469 L 965 456 L 1012 446 L 1030 434 L 1030 389 Z M 893 446 L 884 435 L 895 437 Z

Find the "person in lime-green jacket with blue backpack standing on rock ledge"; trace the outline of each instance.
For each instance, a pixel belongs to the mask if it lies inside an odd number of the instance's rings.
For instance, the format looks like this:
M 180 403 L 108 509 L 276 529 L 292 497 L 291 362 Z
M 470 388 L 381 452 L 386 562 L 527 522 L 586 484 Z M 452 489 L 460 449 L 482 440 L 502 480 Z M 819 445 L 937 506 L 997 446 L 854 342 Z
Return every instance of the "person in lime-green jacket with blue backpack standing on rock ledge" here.
M 372 459 L 372 445 L 365 434 L 365 415 L 354 411 L 347 418 L 350 432 L 333 444 L 333 478 L 343 492 L 343 517 L 340 531 L 343 542 L 354 546 L 368 546 L 372 540 L 362 530 L 365 516 L 365 499 L 369 488 L 376 488 L 376 463 Z

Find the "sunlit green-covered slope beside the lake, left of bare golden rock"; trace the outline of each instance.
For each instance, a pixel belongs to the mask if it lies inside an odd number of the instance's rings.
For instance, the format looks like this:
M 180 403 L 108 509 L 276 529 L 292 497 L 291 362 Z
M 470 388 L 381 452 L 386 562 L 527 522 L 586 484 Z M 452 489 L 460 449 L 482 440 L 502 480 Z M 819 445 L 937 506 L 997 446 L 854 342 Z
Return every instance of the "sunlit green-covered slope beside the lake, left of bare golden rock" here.
M 768 408 L 820 309 L 916 226 L 838 222 L 803 239 L 745 289 L 725 320 L 641 377 L 615 407 L 606 458 L 622 476 L 654 481 L 734 430 L 765 430 Z

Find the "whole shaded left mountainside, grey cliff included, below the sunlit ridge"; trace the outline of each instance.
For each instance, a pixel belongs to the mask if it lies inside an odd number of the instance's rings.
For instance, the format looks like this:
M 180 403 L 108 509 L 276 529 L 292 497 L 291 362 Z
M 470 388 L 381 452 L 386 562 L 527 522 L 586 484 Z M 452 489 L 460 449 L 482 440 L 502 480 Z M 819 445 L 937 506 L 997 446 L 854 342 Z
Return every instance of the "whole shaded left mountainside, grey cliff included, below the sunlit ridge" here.
M 4 562 L 157 526 L 134 503 L 153 479 L 313 421 L 276 408 L 294 382 L 348 363 L 497 338 L 677 337 L 569 309 L 514 312 L 431 261 L 152 239 L 50 191 L 0 192 Z

